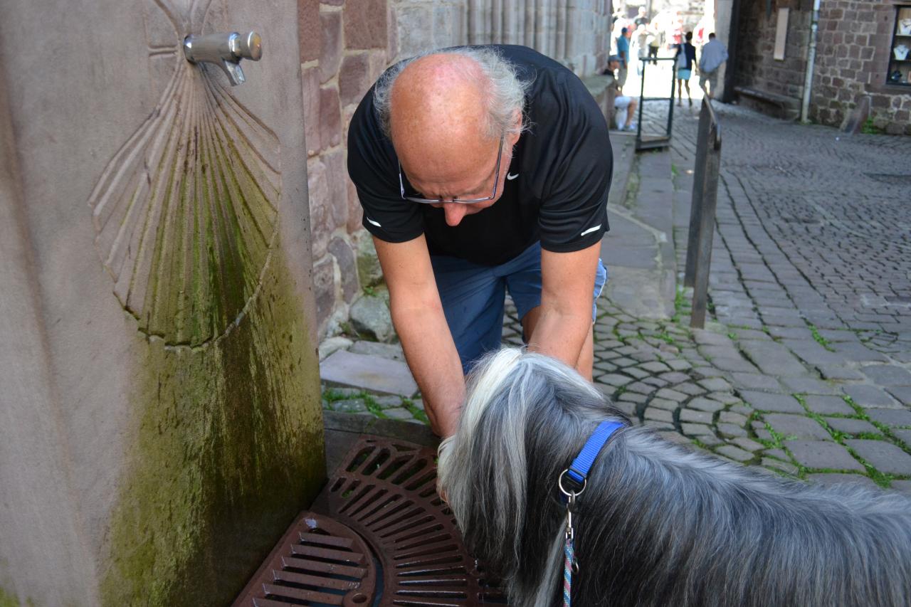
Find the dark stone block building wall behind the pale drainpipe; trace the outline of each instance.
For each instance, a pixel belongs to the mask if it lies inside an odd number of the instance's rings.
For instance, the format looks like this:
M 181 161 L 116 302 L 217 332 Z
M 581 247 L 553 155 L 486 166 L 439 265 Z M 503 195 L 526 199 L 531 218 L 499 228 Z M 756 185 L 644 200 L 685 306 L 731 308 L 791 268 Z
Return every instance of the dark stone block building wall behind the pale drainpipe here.
M 885 85 L 896 0 L 826 0 L 819 15 L 810 118 L 839 126 L 861 98 L 871 100 L 876 127 L 911 134 L 911 90 Z M 773 59 L 779 7 L 791 8 L 784 61 Z M 800 99 L 812 3 L 741 3 L 735 84 Z

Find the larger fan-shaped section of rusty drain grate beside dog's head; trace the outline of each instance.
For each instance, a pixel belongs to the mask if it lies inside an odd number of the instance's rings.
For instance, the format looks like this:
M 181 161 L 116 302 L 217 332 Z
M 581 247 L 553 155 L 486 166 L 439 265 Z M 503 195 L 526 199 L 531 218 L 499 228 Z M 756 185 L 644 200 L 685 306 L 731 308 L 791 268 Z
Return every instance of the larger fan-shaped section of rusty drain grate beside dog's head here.
M 383 568 L 381 607 L 507 604 L 436 495 L 436 452 L 363 436 L 313 509 L 356 530 Z

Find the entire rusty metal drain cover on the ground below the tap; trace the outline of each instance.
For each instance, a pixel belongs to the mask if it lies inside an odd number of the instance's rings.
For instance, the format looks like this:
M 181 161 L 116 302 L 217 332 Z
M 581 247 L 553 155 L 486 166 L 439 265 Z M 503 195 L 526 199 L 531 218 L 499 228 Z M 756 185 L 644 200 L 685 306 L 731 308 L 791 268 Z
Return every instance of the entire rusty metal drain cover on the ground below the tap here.
M 435 458 L 430 448 L 362 436 L 314 502 L 317 514 L 295 521 L 235 607 L 507 604 L 436 494 Z M 295 560 L 302 556 L 311 561 Z

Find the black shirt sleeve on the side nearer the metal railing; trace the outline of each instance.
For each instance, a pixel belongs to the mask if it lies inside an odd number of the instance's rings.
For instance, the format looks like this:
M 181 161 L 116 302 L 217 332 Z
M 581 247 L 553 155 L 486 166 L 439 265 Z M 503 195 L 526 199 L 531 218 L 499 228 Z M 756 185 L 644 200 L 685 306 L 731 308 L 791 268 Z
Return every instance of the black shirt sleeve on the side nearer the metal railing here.
M 556 81 L 539 108 L 555 119 L 542 141 L 552 160 L 538 223 L 545 250 L 574 252 L 599 242 L 609 230 L 613 152 L 607 122 L 585 85 L 568 72 Z

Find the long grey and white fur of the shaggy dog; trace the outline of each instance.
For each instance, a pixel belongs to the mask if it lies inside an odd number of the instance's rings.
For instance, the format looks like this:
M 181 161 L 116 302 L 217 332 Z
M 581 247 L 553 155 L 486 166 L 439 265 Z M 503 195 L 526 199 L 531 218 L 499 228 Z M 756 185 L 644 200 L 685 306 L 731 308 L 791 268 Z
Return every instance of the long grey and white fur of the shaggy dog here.
M 440 486 L 511 604 L 558 604 L 558 475 L 605 419 L 625 417 L 546 356 L 501 350 L 472 374 Z M 786 481 L 647 428 L 610 439 L 573 520 L 576 605 L 911 605 L 911 499 Z

